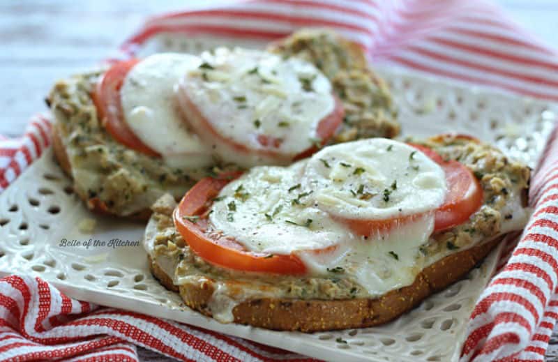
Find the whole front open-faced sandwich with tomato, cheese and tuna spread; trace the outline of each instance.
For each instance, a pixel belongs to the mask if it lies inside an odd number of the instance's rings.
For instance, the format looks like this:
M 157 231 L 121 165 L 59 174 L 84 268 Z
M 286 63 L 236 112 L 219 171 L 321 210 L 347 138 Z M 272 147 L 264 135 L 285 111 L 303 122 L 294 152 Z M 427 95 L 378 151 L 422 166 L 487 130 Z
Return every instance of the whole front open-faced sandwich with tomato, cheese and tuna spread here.
M 199 181 L 153 205 L 153 274 L 220 322 L 382 324 L 525 227 L 529 168 L 472 137 L 327 146 L 288 167 Z

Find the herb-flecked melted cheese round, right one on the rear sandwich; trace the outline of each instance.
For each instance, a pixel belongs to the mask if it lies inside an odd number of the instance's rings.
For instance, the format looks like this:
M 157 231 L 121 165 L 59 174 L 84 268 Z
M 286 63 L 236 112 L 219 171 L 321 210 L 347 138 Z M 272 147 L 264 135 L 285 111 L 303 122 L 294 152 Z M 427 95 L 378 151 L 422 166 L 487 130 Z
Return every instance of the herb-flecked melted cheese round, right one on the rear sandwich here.
M 312 64 L 256 50 L 219 48 L 179 84 L 186 119 L 213 143 L 220 158 L 250 167 L 286 164 L 309 149 L 319 121 L 333 112 L 331 83 Z M 206 131 L 209 123 L 214 132 Z M 215 132 L 250 152 L 231 151 Z M 262 136 L 279 140 L 262 144 Z M 280 153 L 275 159 L 265 149 Z

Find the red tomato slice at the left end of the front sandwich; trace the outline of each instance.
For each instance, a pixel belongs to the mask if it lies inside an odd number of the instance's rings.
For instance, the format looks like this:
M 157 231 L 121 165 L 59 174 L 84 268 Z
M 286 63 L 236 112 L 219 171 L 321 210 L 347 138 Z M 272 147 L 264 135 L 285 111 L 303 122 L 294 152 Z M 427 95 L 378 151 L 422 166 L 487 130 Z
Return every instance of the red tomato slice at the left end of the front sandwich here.
M 211 264 L 239 271 L 276 274 L 304 274 L 306 266 L 296 255 L 269 255 L 246 250 L 229 236 L 206 232 L 209 227 L 207 211 L 219 191 L 232 178 L 206 177 L 184 195 L 174 210 L 174 225 L 192 250 Z

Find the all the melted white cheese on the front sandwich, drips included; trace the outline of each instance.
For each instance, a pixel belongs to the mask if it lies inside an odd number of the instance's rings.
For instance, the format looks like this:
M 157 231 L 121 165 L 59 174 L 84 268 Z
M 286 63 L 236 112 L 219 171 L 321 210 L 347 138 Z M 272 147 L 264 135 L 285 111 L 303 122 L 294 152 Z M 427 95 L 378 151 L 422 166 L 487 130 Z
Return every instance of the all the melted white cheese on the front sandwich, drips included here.
M 213 203 L 209 216 L 211 225 L 233 236 L 247 250 L 299 255 L 312 275 L 353 278 L 370 296 L 410 285 L 425 266 L 420 248 L 432 234 L 433 211 L 444 199 L 444 173 L 439 175 L 439 166 L 430 164 L 426 156 L 414 153 L 412 164 L 423 169 L 405 175 L 409 155 L 414 150 L 400 142 L 375 139 L 346 145 L 329 147 L 331 151 L 317 153 L 314 158 L 290 167 L 252 168 L 221 190 L 219 201 Z M 386 146 L 391 146 L 389 152 L 393 153 L 389 154 L 392 156 L 380 152 Z M 325 174 L 331 172 L 335 174 L 333 178 L 323 176 L 323 172 L 315 169 L 315 161 L 319 158 L 324 160 L 324 157 L 329 165 Z M 395 159 L 401 157 L 405 158 L 405 162 Z M 391 177 L 400 176 L 397 189 L 402 190 L 402 195 L 394 197 L 394 204 L 405 205 L 409 210 L 420 212 L 421 216 L 389 232 L 379 231 L 367 237 L 353 234 L 332 217 L 331 211 L 354 218 L 353 207 L 359 209 L 358 206 L 345 202 L 348 206 L 329 209 L 324 208 L 321 201 L 327 195 L 322 190 L 332 186 L 338 188 L 340 185 L 348 187 L 347 182 L 355 178 L 354 167 L 335 168 L 336 163 L 340 162 L 366 167 L 367 171 L 375 175 L 372 179 L 359 177 L 356 180 L 365 182 L 367 190 L 372 185 L 391 186 Z M 350 168 L 352 172 L 345 172 L 345 168 Z M 421 174 L 423 177 L 420 177 Z M 313 184 L 310 176 L 318 182 Z M 423 182 L 423 179 L 429 181 Z M 312 184 L 312 187 L 306 188 L 308 185 L 305 182 Z M 437 191 L 432 192 L 432 188 Z M 442 196 L 438 193 L 442 193 Z M 405 197 L 412 198 L 414 204 L 406 203 L 403 200 Z M 366 203 L 361 206 L 369 218 L 389 218 L 393 213 L 400 214 L 398 206 L 393 206 L 395 211 L 388 212 L 386 209 L 393 209 L 392 206 L 384 206 L 372 199 L 364 200 Z M 363 213 L 356 215 L 361 216 Z M 322 252 L 317 252 L 319 250 Z

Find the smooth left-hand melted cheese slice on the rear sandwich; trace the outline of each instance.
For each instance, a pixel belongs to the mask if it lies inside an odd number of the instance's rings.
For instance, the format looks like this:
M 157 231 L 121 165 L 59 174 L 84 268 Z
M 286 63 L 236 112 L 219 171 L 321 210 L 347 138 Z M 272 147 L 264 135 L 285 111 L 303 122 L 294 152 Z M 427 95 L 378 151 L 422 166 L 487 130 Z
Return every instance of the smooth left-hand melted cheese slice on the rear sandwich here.
M 186 169 L 213 163 L 211 149 L 187 128 L 176 105 L 174 86 L 201 60 L 188 54 L 146 57 L 126 75 L 120 94 L 126 123 L 165 163 Z

